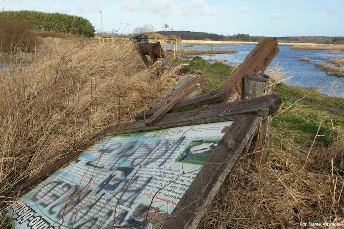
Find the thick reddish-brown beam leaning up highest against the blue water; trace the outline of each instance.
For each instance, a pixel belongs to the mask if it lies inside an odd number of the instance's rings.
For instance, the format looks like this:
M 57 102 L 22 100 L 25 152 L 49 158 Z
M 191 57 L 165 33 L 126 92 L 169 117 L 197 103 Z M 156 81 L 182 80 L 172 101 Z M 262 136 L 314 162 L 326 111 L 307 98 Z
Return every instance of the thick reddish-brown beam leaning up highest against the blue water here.
M 254 49 L 246 56 L 244 62 L 240 64 L 232 75 L 223 83 L 222 88 L 229 88 L 231 91 L 228 98 L 223 103 L 230 102 L 233 89 L 241 82 L 245 75 L 256 72 L 264 72 L 271 61 L 279 52 L 277 38 L 266 38 L 259 42 Z

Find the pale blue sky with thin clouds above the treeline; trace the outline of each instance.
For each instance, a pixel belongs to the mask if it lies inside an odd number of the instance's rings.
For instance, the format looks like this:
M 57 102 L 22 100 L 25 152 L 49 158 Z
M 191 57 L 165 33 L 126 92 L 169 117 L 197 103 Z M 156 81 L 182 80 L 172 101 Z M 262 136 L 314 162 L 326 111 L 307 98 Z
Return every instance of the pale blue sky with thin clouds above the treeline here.
M 3 0 L 0 0 L 0 3 Z M 5 0 L 5 10 L 79 15 L 101 30 L 131 33 L 143 24 L 251 36 L 344 36 L 344 0 Z M 1 6 L 2 7 L 2 6 Z

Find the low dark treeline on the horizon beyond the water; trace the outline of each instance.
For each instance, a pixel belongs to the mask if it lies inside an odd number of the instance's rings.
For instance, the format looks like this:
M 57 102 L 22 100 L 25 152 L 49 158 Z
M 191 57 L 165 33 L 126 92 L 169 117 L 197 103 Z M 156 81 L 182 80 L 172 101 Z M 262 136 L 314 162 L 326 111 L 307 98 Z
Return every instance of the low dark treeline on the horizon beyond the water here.
M 176 37 L 184 40 L 205 40 L 212 41 L 255 41 L 265 38 L 264 36 L 250 36 L 249 34 L 219 35 L 215 33 L 191 32 L 191 31 L 166 31 L 157 32 L 159 34 Z M 278 37 L 279 42 L 310 42 L 318 44 L 344 44 L 344 37 L 327 36 L 288 36 Z

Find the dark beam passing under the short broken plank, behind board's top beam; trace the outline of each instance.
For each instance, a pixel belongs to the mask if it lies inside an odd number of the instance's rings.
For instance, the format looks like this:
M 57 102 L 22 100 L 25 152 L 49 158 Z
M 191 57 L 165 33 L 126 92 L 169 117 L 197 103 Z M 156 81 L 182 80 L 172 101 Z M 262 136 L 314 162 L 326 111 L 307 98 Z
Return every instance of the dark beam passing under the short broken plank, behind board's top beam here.
M 190 110 L 190 109 L 197 108 L 203 105 L 221 102 L 227 98 L 228 92 L 229 90 L 227 88 L 219 89 L 219 90 L 210 91 L 201 95 L 197 95 L 191 98 L 181 100 L 170 110 L 170 112 Z M 144 112 L 137 114 L 135 116 L 135 119 L 142 120 L 144 118 L 149 118 L 158 110 L 159 108 L 152 108 L 152 109 L 146 110 Z

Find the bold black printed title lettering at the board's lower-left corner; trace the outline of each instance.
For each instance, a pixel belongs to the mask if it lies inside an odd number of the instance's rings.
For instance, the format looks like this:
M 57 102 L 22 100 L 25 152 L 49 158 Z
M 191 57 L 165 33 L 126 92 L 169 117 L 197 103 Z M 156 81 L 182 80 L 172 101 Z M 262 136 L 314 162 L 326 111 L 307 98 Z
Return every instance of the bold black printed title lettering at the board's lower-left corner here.
M 47 229 L 50 228 L 50 223 L 42 218 L 42 216 L 35 216 L 36 211 L 34 211 L 30 206 L 21 203 L 15 203 L 13 209 L 14 213 L 18 216 L 16 219 L 19 224 L 23 224 L 28 221 L 28 228 L 30 229 Z

